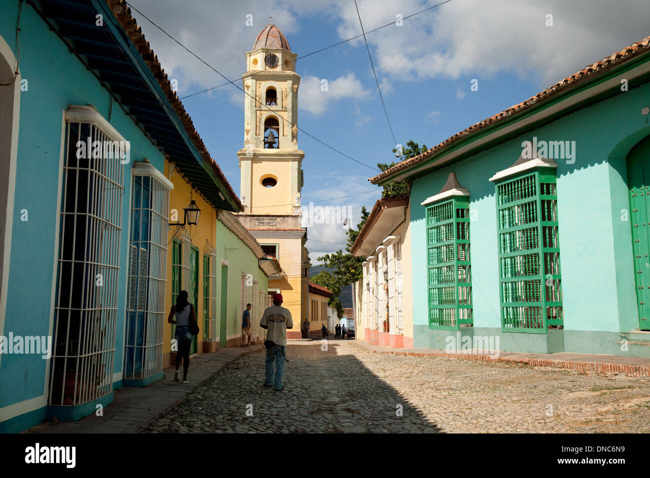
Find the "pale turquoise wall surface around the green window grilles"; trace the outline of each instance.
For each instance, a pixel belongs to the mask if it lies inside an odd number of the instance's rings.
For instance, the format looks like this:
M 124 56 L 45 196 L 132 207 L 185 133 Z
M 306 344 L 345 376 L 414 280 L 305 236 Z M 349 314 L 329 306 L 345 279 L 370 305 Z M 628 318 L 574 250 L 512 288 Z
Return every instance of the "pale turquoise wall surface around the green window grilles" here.
M 610 332 L 604 334 L 608 341 L 619 332 L 638 328 L 630 222 L 621 220 L 621 210 L 629 210 L 625 156 L 638 140 L 650 135 L 647 116 L 640 114 L 649 96 L 650 85 L 632 88 L 413 180 L 413 297 L 422 298 L 413 302 L 416 347 L 439 345 L 428 332 L 426 227 L 421 202 L 439 192 L 450 171 L 456 172 L 460 184 L 471 192 L 470 207 L 476 219 L 470 226 L 474 328 L 500 334 L 495 187 L 489 178 L 511 166 L 521 155 L 521 142 L 532 137 L 575 141 L 576 145 L 575 163 L 556 161 L 565 332 Z M 526 336 L 510 338 L 510 347 L 515 349 L 515 343 L 528 341 L 530 345 L 547 339 L 532 337 L 536 334 L 503 335 Z M 594 337 L 565 333 L 562 347 L 565 351 L 589 351 L 598 347 L 590 345 Z

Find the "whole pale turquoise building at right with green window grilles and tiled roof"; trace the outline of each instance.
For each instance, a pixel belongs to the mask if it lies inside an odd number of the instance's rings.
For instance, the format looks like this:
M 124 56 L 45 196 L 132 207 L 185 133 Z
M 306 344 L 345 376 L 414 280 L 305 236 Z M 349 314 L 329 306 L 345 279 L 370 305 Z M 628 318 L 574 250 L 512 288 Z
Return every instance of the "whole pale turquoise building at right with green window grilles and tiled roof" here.
M 370 179 L 410 185 L 415 347 L 650 357 L 649 41 Z

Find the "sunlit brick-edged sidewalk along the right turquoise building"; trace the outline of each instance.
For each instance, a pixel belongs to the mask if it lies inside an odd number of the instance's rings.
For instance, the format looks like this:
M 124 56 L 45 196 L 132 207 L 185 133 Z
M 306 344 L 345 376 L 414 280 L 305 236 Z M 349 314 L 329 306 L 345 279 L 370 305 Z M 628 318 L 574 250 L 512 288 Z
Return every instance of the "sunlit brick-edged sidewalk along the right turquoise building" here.
M 526 364 L 535 367 L 556 367 L 567 370 L 599 373 L 622 373 L 630 377 L 650 377 L 650 358 L 617 357 L 605 354 L 526 354 L 515 352 L 499 352 L 498 357 L 490 354 L 469 353 L 450 354 L 443 350 L 434 349 L 391 349 L 382 345 L 370 345 L 366 341 L 350 341 L 357 347 L 379 354 L 410 355 L 416 357 L 449 357 L 464 358 L 465 360 L 508 362 Z

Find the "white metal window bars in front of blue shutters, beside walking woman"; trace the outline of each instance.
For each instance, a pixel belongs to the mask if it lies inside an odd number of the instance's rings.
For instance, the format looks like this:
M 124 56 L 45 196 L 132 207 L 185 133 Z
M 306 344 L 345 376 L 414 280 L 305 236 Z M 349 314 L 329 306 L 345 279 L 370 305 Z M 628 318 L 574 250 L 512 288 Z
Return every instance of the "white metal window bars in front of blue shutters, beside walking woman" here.
M 169 189 L 161 181 L 133 177 L 124 378 L 162 371 L 168 210 Z

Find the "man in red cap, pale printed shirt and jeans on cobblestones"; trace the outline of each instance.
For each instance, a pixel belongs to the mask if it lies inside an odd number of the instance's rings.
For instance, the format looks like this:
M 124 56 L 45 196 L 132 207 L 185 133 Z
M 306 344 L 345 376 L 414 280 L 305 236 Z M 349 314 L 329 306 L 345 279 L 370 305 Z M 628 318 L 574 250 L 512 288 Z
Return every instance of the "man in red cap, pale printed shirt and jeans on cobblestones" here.
M 293 327 L 291 312 L 289 312 L 289 309 L 282 307 L 281 294 L 273 296 L 273 305 L 266 308 L 259 325 L 268 330 L 264 342 L 266 347 L 264 386 L 274 387 L 276 392 L 280 392 L 284 389 L 282 377 L 287 353 L 287 328 Z M 274 360 L 276 362 L 275 382 L 273 381 Z

